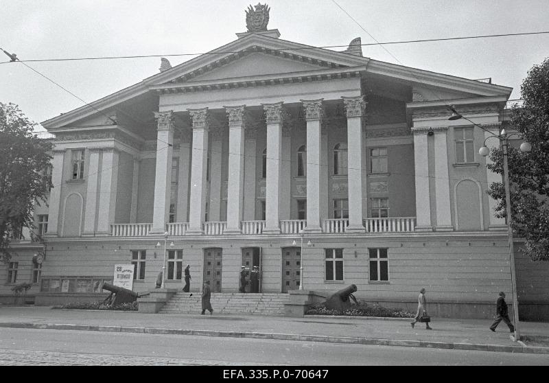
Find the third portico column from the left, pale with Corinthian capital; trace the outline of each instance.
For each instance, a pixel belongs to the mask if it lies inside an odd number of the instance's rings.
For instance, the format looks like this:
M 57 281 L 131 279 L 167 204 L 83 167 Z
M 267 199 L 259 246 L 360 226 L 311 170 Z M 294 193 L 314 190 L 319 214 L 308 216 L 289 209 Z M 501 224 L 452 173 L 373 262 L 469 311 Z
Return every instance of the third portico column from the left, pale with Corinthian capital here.
M 244 211 L 244 131 L 246 105 L 225 106 L 229 116 L 229 182 L 227 187 L 226 234 L 240 234 Z

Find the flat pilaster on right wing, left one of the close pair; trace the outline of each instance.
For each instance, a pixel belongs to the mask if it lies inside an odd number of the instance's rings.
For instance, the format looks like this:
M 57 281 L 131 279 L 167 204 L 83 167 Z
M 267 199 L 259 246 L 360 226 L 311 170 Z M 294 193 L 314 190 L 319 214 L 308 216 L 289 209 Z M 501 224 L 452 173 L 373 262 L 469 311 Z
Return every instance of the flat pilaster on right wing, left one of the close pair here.
M 432 231 L 429 194 L 427 130 L 414 132 L 414 172 L 416 184 L 416 231 Z

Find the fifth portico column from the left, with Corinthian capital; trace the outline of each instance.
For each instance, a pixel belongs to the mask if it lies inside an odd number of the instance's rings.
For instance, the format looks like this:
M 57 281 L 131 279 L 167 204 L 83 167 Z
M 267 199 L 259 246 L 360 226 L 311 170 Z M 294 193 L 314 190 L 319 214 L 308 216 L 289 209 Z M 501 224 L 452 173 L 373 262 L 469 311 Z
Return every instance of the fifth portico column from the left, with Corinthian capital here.
M 320 148 L 323 98 L 301 100 L 307 120 L 307 233 L 321 233 L 320 228 Z

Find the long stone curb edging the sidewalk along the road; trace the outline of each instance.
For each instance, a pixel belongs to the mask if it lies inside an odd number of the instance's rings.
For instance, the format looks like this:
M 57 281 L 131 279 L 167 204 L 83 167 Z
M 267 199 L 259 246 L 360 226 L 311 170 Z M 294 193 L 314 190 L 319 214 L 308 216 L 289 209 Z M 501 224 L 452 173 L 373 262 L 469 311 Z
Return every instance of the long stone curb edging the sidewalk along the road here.
M 473 343 L 449 343 L 434 342 L 428 340 L 398 340 L 384 338 L 359 338 L 347 336 L 323 336 L 323 335 L 301 335 L 301 334 L 277 334 L 263 332 L 230 332 L 200 329 L 168 329 L 156 327 L 126 327 L 126 326 L 96 326 L 96 325 L 68 325 L 68 324 L 46 324 L 46 323 L 0 323 L 0 327 L 23 328 L 23 329 L 65 329 L 78 331 L 101 331 L 101 332 L 129 332 L 143 334 L 170 334 L 170 335 L 191 335 L 191 336 L 223 336 L 231 338 L 261 338 L 274 340 L 299 340 L 305 342 L 327 342 L 347 343 L 355 345 L 378 345 L 378 346 L 400 346 L 400 347 L 427 347 L 434 349 L 456 349 L 476 351 L 496 351 L 511 353 L 546 353 L 549 354 L 549 347 L 521 347 L 502 345 L 477 345 Z

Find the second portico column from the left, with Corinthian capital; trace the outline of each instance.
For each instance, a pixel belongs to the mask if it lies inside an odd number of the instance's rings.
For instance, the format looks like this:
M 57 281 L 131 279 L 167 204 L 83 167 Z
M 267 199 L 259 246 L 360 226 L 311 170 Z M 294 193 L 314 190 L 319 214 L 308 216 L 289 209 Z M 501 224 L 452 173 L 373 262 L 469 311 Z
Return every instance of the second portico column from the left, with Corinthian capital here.
M 191 160 L 191 198 L 189 234 L 202 234 L 202 220 L 206 208 L 206 172 L 208 163 L 208 108 L 187 109 L 193 120 L 193 148 Z

